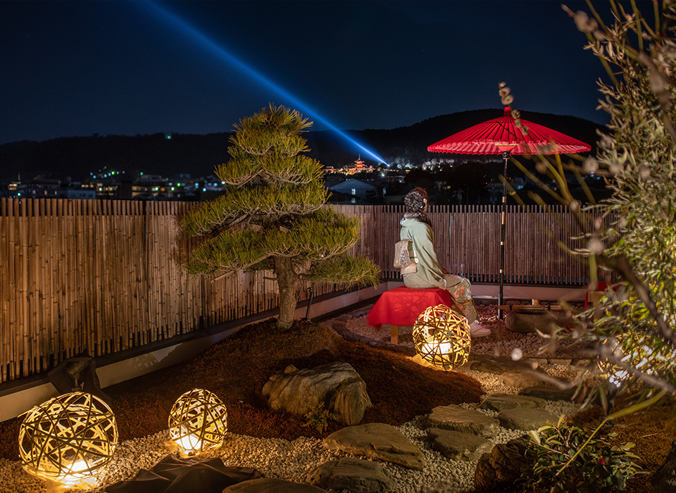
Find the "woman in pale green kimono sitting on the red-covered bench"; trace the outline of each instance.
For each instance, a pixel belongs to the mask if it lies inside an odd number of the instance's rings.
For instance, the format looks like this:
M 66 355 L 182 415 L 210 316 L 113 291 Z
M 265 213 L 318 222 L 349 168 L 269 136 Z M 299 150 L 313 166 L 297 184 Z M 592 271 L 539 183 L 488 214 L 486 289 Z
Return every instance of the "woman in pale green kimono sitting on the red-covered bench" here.
M 427 191 L 414 188 L 403 199 L 406 213 L 399 221 L 401 231 L 399 239 L 411 239 L 413 251 L 418 259 L 415 272 L 402 273 L 403 284 L 411 289 L 439 287 L 451 294 L 453 304 L 467 318 L 472 337 L 485 337 L 491 330 L 477 322 L 477 308 L 472 299 L 469 280 L 465 277 L 449 274 L 439 265 L 434 253 L 434 233 L 427 212 Z

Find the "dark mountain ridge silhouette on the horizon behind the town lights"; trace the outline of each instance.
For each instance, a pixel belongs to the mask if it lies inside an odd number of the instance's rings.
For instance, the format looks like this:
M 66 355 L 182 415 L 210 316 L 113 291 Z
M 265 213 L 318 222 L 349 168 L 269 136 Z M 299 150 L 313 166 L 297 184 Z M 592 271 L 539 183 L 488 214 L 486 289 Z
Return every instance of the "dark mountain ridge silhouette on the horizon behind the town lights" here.
M 432 156 L 427 146 L 466 127 L 502 116 L 501 109 L 463 111 L 436 116 L 409 127 L 392 130 L 351 130 L 348 135 L 386 161 L 403 160 L 420 165 Z M 595 152 L 596 130 L 606 130 L 589 120 L 574 116 L 556 116 L 550 113 L 522 111 L 522 118 L 539 123 L 592 145 Z M 228 160 L 227 146 L 230 132 L 208 135 L 165 134 L 127 137 L 62 137 L 44 142 L 21 141 L 0 145 L 0 182 L 30 179 L 37 174 L 57 177 L 70 176 L 83 180 L 89 173 L 107 167 L 108 170 L 133 173 L 142 171 L 172 177 L 190 173 L 193 177 L 213 173 L 215 166 Z M 309 156 L 324 166 L 344 166 L 356 160 L 358 149 L 350 146 L 334 132 L 307 132 Z M 368 163 L 370 156 L 361 153 Z

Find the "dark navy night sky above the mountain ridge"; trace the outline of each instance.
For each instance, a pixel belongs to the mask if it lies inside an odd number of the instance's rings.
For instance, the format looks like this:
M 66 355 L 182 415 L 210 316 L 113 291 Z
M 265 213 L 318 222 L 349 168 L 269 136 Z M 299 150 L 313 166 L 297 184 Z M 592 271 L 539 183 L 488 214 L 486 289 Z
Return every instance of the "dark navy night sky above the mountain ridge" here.
M 390 129 L 501 108 L 501 81 L 515 108 L 607 123 L 561 3 L 0 1 L 0 143 L 224 132 L 268 102 Z

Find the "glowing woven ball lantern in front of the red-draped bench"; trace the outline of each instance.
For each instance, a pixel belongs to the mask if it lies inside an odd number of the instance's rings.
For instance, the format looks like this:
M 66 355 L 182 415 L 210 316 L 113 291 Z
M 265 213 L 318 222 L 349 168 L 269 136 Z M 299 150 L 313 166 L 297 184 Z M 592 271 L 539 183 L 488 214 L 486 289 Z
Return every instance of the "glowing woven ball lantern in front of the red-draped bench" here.
M 413 325 L 415 351 L 438 368 L 451 370 L 467 363 L 472 338 L 467 318 L 446 305 L 430 306 Z

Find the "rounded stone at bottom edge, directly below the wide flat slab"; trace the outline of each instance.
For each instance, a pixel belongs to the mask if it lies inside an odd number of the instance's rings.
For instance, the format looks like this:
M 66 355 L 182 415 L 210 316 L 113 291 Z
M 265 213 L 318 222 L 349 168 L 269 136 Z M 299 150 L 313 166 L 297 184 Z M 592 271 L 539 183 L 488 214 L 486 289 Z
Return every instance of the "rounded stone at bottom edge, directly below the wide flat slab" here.
M 308 475 L 311 485 L 353 493 L 382 493 L 394 489 L 396 482 L 380 463 L 344 457 L 325 462 Z

